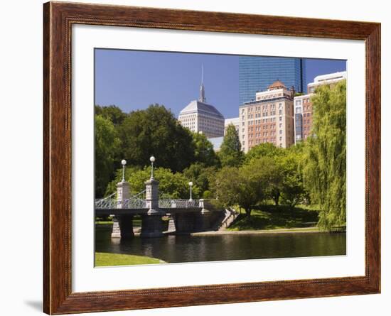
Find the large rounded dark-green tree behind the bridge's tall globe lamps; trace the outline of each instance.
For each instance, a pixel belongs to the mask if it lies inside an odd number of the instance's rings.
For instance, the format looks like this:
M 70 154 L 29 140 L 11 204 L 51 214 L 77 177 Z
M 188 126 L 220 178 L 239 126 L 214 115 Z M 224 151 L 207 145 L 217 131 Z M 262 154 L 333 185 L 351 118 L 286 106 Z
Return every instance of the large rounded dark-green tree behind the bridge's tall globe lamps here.
M 130 113 L 119 126 L 119 137 L 130 165 L 149 165 L 149 157 L 156 156 L 156 166 L 176 172 L 195 160 L 191 131 L 159 104 Z

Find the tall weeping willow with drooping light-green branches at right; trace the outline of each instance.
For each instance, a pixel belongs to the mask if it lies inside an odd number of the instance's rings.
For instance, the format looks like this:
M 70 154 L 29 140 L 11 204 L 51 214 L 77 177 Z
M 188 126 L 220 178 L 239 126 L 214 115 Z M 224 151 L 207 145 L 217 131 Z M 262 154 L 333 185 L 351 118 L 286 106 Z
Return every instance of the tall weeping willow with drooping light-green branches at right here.
M 346 224 L 346 80 L 323 85 L 311 98 L 312 137 L 304 154 L 304 183 L 319 205 L 318 227 Z

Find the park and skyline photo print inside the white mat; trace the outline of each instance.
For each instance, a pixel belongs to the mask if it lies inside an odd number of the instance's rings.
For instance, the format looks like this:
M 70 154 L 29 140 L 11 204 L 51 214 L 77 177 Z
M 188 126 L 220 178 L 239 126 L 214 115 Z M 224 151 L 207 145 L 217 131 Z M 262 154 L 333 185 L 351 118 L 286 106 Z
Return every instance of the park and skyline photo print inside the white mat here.
M 95 266 L 346 255 L 346 78 L 95 49 Z

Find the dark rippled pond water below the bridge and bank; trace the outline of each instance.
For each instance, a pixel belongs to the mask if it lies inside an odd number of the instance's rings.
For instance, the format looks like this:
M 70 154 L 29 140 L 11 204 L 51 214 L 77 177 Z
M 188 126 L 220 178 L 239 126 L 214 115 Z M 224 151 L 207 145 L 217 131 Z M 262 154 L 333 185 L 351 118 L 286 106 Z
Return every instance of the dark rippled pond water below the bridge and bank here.
M 95 251 L 159 258 L 168 263 L 346 254 L 346 233 L 170 235 L 111 239 L 111 225 L 95 233 Z

